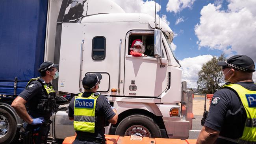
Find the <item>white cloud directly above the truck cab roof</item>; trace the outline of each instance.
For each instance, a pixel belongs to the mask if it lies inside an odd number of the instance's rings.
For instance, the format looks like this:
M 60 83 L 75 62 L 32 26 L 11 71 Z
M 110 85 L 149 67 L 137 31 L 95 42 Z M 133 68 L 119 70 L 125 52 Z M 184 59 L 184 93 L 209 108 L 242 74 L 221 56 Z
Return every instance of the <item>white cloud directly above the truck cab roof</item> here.
M 143 0 L 113 0 L 117 3 L 126 13 L 146 13 L 155 17 L 155 2 L 153 0 L 143 2 Z M 156 12 L 159 12 L 159 4 L 156 3 Z M 156 19 L 159 20 L 159 15 L 156 15 Z M 167 20 L 166 15 L 162 15 L 161 20 L 167 23 L 170 22 Z

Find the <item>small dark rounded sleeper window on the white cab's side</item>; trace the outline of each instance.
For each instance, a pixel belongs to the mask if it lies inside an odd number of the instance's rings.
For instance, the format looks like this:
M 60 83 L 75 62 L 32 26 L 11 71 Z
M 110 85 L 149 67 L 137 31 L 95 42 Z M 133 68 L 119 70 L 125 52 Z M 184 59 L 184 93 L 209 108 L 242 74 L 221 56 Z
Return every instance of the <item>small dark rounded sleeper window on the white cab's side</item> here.
M 97 36 L 93 38 L 91 57 L 95 61 L 101 61 L 106 57 L 106 38 Z

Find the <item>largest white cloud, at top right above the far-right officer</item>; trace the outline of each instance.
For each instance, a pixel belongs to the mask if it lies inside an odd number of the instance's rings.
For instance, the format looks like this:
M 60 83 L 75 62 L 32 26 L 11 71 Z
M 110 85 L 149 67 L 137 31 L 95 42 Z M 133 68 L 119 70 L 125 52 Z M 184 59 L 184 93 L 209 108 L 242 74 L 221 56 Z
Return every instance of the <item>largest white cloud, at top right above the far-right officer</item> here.
M 199 47 L 244 54 L 256 61 L 256 0 L 228 0 L 228 9 L 208 4 L 195 26 Z

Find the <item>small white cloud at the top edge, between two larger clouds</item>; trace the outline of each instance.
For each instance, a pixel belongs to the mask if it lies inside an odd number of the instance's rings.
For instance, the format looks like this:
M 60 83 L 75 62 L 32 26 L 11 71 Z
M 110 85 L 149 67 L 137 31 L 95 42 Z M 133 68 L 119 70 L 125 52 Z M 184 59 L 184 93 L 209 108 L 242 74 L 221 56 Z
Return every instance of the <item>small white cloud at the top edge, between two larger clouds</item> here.
M 168 0 L 166 11 L 178 13 L 185 8 L 191 8 L 195 0 Z

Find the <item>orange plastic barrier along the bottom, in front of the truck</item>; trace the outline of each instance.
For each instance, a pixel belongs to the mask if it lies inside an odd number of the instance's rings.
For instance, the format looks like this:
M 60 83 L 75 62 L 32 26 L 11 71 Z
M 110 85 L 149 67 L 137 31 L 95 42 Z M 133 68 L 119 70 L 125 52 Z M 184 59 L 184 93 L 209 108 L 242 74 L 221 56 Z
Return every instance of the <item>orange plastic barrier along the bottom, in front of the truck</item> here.
M 148 138 L 139 136 L 105 135 L 106 144 L 195 144 L 197 140 L 180 140 L 169 138 Z M 76 136 L 66 137 L 62 144 L 72 144 Z

